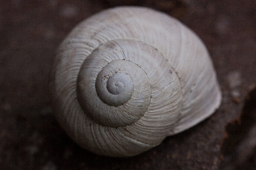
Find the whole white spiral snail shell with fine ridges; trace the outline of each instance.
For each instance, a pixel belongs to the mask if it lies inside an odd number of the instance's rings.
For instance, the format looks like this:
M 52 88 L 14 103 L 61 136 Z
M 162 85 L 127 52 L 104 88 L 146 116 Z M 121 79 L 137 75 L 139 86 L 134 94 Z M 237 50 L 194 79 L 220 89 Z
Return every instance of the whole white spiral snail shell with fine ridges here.
M 147 151 L 221 102 L 205 45 L 178 20 L 145 7 L 84 20 L 60 45 L 52 73 L 60 125 L 99 155 Z

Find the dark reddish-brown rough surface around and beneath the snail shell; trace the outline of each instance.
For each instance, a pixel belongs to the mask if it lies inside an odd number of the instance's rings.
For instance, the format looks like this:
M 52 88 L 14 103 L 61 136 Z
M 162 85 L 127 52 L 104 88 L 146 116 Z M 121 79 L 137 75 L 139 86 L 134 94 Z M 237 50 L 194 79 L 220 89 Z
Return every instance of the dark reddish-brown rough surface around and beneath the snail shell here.
M 256 1 L 0 4 L 0 169 L 218 169 L 225 160 L 220 149 L 225 127 L 256 86 Z M 223 93 L 220 109 L 206 121 L 121 159 L 91 154 L 72 142 L 55 121 L 48 90 L 58 44 L 81 20 L 116 5 L 155 7 L 190 27 L 208 47 Z

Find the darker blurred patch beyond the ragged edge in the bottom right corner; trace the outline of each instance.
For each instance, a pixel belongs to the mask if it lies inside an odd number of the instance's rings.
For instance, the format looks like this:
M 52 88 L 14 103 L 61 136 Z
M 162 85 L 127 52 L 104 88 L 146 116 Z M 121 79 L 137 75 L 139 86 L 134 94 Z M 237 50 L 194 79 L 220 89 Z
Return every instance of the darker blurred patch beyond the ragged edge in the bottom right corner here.
M 241 115 L 226 127 L 222 170 L 256 169 L 256 89 L 246 97 Z

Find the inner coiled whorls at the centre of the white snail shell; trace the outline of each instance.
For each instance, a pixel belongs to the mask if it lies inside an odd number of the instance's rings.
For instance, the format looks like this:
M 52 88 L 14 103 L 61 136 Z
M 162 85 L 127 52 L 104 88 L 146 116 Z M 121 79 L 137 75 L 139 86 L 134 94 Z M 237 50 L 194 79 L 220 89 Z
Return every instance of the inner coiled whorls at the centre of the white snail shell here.
M 116 94 L 117 83 L 123 90 Z M 104 126 L 140 123 L 157 105 L 162 106 L 157 113 L 173 122 L 181 108 L 180 81 L 173 68 L 155 48 L 136 40 L 113 40 L 96 48 L 84 60 L 77 85 L 85 113 Z M 168 99 L 162 100 L 161 93 Z M 175 116 L 163 107 L 170 105 Z

